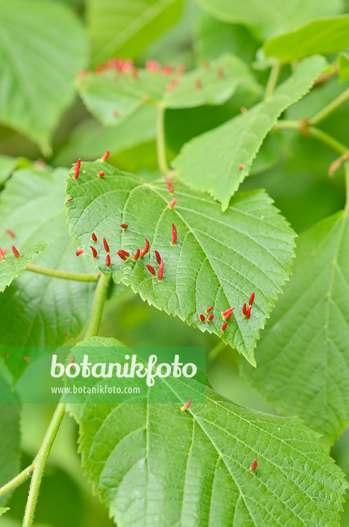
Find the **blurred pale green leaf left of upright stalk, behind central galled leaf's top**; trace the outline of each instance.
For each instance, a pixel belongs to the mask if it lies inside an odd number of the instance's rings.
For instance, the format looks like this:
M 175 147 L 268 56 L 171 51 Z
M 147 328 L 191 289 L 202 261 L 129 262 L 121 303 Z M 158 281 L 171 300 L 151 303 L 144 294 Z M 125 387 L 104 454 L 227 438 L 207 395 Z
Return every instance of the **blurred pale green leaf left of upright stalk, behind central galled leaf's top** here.
M 57 154 L 55 164 L 67 164 L 76 155 L 86 160 L 100 157 L 106 149 L 110 156 L 137 144 L 147 143 L 156 138 L 156 107 L 153 104 L 141 106 L 115 126 L 102 126 L 95 120 L 84 121 L 77 127 L 66 147 Z

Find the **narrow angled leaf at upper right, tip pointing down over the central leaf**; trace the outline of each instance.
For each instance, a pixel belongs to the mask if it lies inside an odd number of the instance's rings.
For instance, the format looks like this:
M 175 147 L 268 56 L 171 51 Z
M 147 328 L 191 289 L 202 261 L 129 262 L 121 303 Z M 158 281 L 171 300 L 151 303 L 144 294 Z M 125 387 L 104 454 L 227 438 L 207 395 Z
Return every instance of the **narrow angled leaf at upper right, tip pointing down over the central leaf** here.
M 273 95 L 185 144 L 172 161 L 178 178 L 192 188 L 209 192 L 226 210 L 280 114 L 311 89 L 325 67 L 323 57 L 304 60 Z

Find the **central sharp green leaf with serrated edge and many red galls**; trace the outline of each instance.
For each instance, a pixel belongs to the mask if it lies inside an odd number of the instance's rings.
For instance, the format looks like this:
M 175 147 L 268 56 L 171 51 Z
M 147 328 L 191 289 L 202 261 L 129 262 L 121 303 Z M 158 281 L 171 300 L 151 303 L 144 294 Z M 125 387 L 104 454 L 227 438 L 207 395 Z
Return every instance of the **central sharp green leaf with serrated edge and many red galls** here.
M 103 170 L 103 178 L 98 172 Z M 72 172 L 71 172 L 72 175 Z M 146 184 L 105 162 L 81 163 L 78 179 L 69 177 L 66 204 L 71 235 L 85 249 L 91 264 L 139 292 L 143 300 L 178 315 L 188 324 L 220 336 L 254 364 L 253 350 L 274 299 L 287 280 L 293 255 L 294 232 L 263 191 L 239 194 L 226 213 L 205 194 L 175 184 L 177 203 L 166 183 Z M 123 230 L 120 223 L 127 223 Z M 171 245 L 172 223 L 178 241 Z M 93 244 L 91 233 L 98 242 Z M 109 243 L 112 266 L 105 265 L 103 237 Z M 150 251 L 136 263 L 123 263 L 119 249 L 131 256 L 150 242 Z M 94 245 L 98 258 L 92 258 Z M 154 250 L 164 261 L 158 283 L 146 268 L 157 268 Z M 255 307 L 246 320 L 241 311 L 251 293 Z M 215 306 L 215 318 L 201 323 L 199 315 Z M 236 307 L 224 333 L 221 312 Z

